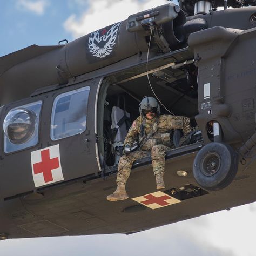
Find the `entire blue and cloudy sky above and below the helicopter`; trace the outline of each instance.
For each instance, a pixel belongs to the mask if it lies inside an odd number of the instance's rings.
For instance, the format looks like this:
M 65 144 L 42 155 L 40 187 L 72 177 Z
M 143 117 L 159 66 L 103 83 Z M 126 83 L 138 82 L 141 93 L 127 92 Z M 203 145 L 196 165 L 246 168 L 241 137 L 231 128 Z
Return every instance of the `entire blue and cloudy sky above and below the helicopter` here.
M 56 45 L 165 0 L 0 0 L 0 56 L 26 46 Z M 0 255 L 254 256 L 256 203 L 132 235 L 13 239 Z M 96 246 L 97 244 L 97 246 Z

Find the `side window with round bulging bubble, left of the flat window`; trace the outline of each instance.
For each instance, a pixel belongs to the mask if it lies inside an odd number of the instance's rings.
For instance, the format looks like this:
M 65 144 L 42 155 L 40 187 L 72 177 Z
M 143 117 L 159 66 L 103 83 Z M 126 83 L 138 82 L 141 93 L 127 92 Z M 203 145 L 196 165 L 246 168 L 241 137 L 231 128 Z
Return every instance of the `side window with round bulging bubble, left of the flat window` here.
M 35 146 L 39 139 L 42 101 L 11 109 L 4 119 L 4 152 L 11 153 Z

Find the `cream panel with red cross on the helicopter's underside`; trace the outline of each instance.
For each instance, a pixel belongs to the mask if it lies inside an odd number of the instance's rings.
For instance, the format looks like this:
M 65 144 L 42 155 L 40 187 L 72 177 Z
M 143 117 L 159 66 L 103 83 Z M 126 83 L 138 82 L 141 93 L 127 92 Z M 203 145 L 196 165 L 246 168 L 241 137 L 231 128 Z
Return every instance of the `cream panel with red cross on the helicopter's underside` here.
M 181 201 L 170 197 L 169 195 L 165 194 L 164 192 L 157 191 L 151 194 L 145 194 L 141 197 L 132 198 L 132 200 L 137 201 L 138 203 L 150 207 L 151 209 L 157 209 L 160 207 L 177 204 Z

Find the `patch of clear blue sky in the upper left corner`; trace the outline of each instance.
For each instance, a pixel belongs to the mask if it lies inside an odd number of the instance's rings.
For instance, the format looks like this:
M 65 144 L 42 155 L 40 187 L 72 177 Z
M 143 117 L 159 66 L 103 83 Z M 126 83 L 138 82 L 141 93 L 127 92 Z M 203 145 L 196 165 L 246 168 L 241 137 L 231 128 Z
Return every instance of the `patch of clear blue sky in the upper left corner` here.
M 26 2 L 42 4 L 32 9 L 24 4 Z M 0 0 L 0 22 L 4 24 L 0 30 L 0 56 L 32 44 L 56 45 L 62 39 L 71 41 L 73 36 L 63 24 L 71 14 L 80 15 L 82 10 L 72 2 L 75 1 Z

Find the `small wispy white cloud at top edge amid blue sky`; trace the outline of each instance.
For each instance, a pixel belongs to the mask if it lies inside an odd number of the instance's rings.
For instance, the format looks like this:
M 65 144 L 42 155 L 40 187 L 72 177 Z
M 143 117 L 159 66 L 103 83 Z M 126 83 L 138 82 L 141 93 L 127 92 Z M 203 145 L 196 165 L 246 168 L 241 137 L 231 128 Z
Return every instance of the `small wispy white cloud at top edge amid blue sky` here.
M 48 0 L 18 0 L 16 6 L 18 9 L 33 12 L 37 15 L 43 15 L 45 8 L 49 5 Z

